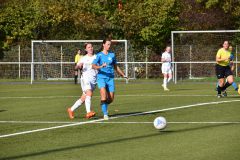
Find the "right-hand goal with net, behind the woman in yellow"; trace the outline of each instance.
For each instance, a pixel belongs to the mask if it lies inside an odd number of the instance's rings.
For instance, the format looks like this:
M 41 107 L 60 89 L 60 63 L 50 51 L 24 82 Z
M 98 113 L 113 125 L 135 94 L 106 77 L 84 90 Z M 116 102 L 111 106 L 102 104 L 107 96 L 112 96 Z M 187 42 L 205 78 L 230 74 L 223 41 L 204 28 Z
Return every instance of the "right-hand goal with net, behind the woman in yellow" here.
M 216 54 L 225 40 L 233 46 L 235 75 L 238 76 L 240 30 L 172 31 L 174 81 L 215 78 Z

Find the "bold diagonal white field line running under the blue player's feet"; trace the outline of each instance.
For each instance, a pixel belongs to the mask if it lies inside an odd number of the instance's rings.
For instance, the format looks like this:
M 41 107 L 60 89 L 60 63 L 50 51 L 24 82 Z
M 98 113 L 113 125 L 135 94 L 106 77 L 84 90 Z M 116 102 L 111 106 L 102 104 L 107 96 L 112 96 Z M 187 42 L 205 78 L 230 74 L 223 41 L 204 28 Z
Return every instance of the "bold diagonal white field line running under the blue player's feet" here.
M 147 112 L 141 112 L 141 113 L 133 113 L 133 114 L 128 114 L 128 115 L 120 115 L 120 116 L 110 117 L 109 119 L 117 119 L 117 118 L 145 115 L 145 114 L 151 114 L 151 113 L 157 113 L 157 112 L 163 112 L 163 111 L 171 111 L 171 110 L 185 109 L 185 108 L 191 108 L 191 107 L 197 107 L 197 106 L 214 105 L 214 104 L 231 103 L 231 102 L 240 102 L 240 100 L 196 103 L 196 104 L 185 105 L 185 106 L 180 106 L 180 107 L 166 108 L 166 109 L 147 111 Z M 0 138 L 12 137 L 12 136 L 16 136 L 16 135 L 23 135 L 23 134 L 28 134 L 28 133 L 41 132 L 41 131 L 47 131 L 47 130 L 53 130 L 53 129 L 58 129 L 58 128 L 77 126 L 77 125 L 96 123 L 96 122 L 101 122 L 101 121 L 104 121 L 104 119 L 98 119 L 98 120 L 92 120 L 92 121 L 86 121 L 86 122 L 78 122 L 78 123 L 73 123 L 73 124 L 65 124 L 65 125 L 60 125 L 60 126 L 55 126 L 55 127 L 41 128 L 41 129 L 17 132 L 17 133 L 12 133 L 12 134 L 5 134 L 5 135 L 0 135 Z

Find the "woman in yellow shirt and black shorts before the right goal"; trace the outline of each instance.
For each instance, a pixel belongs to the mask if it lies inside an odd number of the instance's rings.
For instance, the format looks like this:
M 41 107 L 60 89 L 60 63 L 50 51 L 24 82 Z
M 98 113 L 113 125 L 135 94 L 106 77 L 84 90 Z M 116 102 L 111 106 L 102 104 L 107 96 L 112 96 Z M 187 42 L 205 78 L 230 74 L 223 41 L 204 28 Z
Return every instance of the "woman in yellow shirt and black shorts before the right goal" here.
M 223 47 L 218 50 L 216 55 L 216 75 L 218 78 L 217 97 L 227 96 L 226 89 L 233 83 L 233 73 L 230 68 L 231 52 L 228 49 L 229 42 L 224 41 Z M 226 83 L 225 83 L 226 78 Z

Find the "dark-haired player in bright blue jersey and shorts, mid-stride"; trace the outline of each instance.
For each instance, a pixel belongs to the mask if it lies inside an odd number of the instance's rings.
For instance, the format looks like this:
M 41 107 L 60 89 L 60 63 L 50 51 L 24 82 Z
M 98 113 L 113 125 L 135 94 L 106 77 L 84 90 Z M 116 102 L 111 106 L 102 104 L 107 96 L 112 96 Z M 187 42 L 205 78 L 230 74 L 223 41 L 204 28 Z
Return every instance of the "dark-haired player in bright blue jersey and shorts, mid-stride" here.
M 97 85 L 101 94 L 101 107 L 104 120 L 108 120 L 108 105 L 113 102 L 115 84 L 114 84 L 114 70 L 124 78 L 124 73 L 117 65 L 116 56 L 110 51 L 111 40 L 104 39 L 102 44 L 102 51 L 97 54 L 92 66 L 98 70 Z

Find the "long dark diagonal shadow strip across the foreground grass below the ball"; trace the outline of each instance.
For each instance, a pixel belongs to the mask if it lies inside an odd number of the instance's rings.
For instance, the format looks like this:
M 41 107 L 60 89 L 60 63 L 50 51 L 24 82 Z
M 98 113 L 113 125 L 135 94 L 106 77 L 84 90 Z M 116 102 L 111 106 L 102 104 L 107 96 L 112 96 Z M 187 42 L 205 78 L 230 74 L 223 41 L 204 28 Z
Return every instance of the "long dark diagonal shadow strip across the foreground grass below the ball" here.
M 188 129 L 176 129 L 176 130 L 163 130 L 163 131 L 156 131 L 155 133 L 151 134 L 146 134 L 146 135 L 141 135 L 141 136 L 135 136 L 135 137 L 125 137 L 125 138 L 119 138 L 115 140 L 110 140 L 110 141 L 101 141 L 101 142 L 95 142 L 95 143 L 85 143 L 85 144 L 80 144 L 80 145 L 75 145 L 75 146 L 70 146 L 70 147 L 62 147 L 62 148 L 56 148 L 56 149 L 50 149 L 50 150 L 45 150 L 45 151 L 40 151 L 40 152 L 35 152 L 35 153 L 27 153 L 27 154 L 22 154 L 18 156 L 11 156 L 11 157 L 4 157 L 0 158 L 0 160 L 15 160 L 15 159 L 22 159 L 22 158 L 31 158 L 34 156 L 41 156 L 41 155 L 47 155 L 51 153 L 57 153 L 57 152 L 66 152 L 66 151 L 71 151 L 75 149 L 84 149 L 84 148 L 89 148 L 89 147 L 95 147 L 95 146 L 104 146 L 104 145 L 109 145 L 113 143 L 121 143 L 121 142 L 129 142 L 129 141 L 135 141 L 135 140 L 140 140 L 144 138 L 151 138 L 155 136 L 168 136 L 171 134 L 177 134 L 181 132 L 189 132 L 189 131 L 195 131 L 195 130 L 202 130 L 202 129 L 207 129 L 207 128 L 215 128 L 215 127 L 221 127 L 221 126 L 226 126 L 226 125 L 236 125 L 236 124 L 214 124 L 214 125 L 209 125 L 206 124 L 206 126 L 201 126 L 201 127 L 193 127 L 193 128 L 188 128 Z

